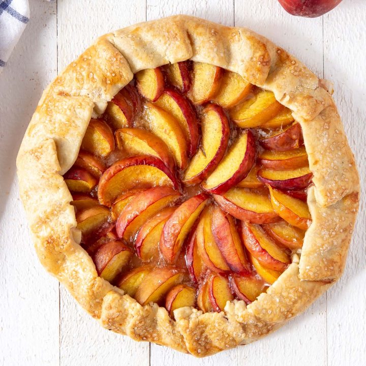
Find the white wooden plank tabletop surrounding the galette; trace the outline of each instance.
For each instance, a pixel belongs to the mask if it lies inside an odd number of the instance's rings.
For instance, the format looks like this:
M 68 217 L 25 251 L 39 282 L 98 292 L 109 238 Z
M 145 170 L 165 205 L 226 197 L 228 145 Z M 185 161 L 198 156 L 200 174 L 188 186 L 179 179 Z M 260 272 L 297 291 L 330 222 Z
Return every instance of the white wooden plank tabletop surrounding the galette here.
M 269 337 L 206 359 L 102 329 L 40 265 L 18 197 L 15 158 L 42 90 L 93 40 L 172 14 L 248 26 L 334 82 L 365 192 L 366 1 L 315 19 L 276 0 L 29 0 L 31 21 L 0 75 L 0 365 L 365 365 L 366 219 L 361 201 L 343 278 Z

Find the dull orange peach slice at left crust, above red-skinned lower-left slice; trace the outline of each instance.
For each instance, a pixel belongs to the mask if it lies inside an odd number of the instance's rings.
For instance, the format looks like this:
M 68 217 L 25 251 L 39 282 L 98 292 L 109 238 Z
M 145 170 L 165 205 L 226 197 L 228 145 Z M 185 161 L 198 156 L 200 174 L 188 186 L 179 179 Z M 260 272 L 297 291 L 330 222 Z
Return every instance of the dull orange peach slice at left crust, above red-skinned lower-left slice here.
M 76 227 L 81 231 L 81 240 L 85 242 L 90 234 L 108 223 L 108 218 L 108 207 L 100 204 L 76 212 Z

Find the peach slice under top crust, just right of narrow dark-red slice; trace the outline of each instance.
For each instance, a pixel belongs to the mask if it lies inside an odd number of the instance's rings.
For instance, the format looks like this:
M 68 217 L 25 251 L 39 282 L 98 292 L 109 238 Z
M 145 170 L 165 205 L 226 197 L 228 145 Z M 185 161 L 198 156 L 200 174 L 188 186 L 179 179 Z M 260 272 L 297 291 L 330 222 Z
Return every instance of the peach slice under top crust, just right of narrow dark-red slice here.
M 195 104 L 203 104 L 212 99 L 220 87 L 223 69 L 218 66 L 194 62 L 192 85 L 189 98 Z

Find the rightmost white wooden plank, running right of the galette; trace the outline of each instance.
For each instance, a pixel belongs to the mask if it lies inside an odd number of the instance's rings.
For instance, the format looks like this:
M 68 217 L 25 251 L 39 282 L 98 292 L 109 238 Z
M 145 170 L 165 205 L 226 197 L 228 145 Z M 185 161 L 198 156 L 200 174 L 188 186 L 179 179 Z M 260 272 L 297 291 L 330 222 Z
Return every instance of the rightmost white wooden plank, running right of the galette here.
M 360 212 L 342 279 L 328 292 L 328 365 L 361 365 L 364 347 L 366 293 L 366 34 L 362 0 L 343 2 L 324 16 L 324 74 L 334 82 L 334 100 L 345 126 L 361 177 Z

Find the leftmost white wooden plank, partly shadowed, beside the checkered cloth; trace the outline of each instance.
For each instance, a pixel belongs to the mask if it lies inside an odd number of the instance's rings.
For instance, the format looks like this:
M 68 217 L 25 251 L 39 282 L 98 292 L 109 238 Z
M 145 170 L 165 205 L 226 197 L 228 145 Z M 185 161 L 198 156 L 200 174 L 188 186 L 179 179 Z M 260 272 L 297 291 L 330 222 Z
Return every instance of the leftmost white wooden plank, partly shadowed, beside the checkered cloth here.
M 15 159 L 43 89 L 56 76 L 56 4 L 31 21 L 0 75 L 0 364 L 58 365 L 58 283 L 40 264 L 19 200 Z

